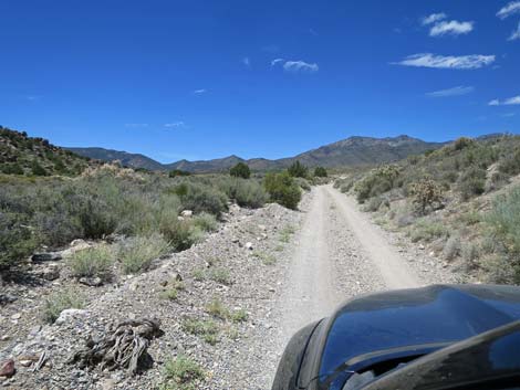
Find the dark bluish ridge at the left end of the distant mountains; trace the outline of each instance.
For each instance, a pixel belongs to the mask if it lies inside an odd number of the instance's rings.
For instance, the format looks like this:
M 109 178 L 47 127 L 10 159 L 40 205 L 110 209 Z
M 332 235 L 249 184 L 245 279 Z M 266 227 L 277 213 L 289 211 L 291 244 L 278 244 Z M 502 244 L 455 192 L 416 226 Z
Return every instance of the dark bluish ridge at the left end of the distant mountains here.
M 69 148 L 67 149 L 76 155 L 93 158 L 102 161 L 121 161 L 125 167 L 144 168 L 148 170 L 165 170 L 167 169 L 160 162 L 138 154 L 129 154 L 126 151 L 104 149 L 104 148 Z

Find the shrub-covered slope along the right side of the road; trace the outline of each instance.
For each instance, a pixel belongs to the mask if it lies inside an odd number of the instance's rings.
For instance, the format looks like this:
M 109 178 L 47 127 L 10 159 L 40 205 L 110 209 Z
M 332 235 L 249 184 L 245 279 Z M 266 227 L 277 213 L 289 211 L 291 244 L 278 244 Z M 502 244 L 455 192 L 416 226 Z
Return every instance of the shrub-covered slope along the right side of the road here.
M 468 278 L 520 283 L 519 173 L 520 137 L 462 137 L 334 186 Z

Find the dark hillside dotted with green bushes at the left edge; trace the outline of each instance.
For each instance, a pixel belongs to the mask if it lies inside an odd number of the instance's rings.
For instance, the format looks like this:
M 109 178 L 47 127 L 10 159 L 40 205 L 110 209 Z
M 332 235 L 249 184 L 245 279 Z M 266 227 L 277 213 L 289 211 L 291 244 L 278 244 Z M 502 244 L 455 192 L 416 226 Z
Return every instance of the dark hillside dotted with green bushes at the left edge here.
M 0 171 L 8 175 L 75 176 L 95 165 L 43 138 L 0 126 Z

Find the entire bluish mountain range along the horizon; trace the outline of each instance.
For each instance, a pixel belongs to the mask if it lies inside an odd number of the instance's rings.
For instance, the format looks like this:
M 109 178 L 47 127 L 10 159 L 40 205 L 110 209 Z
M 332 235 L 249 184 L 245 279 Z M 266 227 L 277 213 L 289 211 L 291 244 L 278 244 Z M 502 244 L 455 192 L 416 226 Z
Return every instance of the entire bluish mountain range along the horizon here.
M 406 135 L 387 138 L 350 137 L 293 157 L 274 160 L 264 158 L 242 159 L 238 156 L 229 156 L 212 160 L 180 160 L 173 164 L 160 164 L 144 155 L 104 148 L 69 147 L 65 149 L 97 160 L 119 160 L 122 165 L 132 168 L 148 170 L 179 169 L 191 173 L 208 173 L 227 171 L 238 162 L 246 162 L 253 171 L 283 169 L 297 160 L 309 167 L 322 166 L 326 168 L 384 164 L 397 161 L 410 155 L 423 154 L 426 150 L 437 149 L 444 145 L 446 143 L 427 143 Z

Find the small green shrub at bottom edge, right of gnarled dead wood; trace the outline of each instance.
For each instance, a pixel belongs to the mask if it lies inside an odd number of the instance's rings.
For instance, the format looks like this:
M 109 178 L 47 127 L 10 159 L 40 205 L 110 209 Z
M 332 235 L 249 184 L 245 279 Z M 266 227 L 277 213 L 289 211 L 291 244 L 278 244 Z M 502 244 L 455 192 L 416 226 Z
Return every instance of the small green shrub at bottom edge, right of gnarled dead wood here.
M 204 380 L 204 370 L 186 356 L 168 359 L 163 370 L 160 390 L 195 390 L 195 384 Z

